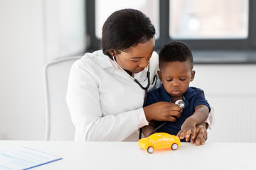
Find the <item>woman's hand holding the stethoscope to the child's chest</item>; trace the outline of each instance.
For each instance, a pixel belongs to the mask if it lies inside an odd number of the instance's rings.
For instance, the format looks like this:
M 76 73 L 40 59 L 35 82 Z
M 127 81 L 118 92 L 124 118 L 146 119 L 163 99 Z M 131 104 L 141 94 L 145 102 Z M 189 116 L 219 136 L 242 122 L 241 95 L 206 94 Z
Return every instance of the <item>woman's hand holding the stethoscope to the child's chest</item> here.
M 181 117 L 182 108 L 175 103 L 159 101 L 143 108 L 146 120 L 175 122 Z

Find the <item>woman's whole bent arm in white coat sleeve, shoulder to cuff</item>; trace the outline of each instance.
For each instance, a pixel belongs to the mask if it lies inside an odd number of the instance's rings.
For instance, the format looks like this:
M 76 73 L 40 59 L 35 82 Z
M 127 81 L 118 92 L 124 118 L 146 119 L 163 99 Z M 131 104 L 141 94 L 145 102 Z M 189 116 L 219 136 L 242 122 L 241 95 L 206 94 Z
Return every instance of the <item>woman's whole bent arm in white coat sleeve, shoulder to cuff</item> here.
M 76 134 L 83 141 L 122 141 L 138 130 L 142 108 L 103 116 L 97 85 L 92 74 L 73 65 L 66 100 Z

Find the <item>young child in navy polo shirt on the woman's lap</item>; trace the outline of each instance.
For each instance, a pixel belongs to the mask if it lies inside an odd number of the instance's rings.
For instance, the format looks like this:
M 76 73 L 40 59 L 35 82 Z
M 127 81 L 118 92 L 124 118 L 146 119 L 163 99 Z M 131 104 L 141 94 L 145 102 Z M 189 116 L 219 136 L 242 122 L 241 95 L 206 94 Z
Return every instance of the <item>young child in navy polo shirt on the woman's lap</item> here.
M 195 77 L 193 56 L 189 47 L 183 42 L 170 42 L 159 52 L 159 79 L 162 85 L 150 91 L 146 98 L 146 106 L 159 101 L 175 103 L 182 100 L 185 104 L 181 117 L 175 122 L 166 122 L 157 132 L 177 135 L 182 142 L 195 140 L 196 125 L 204 123 L 210 112 L 203 90 L 189 86 Z M 183 104 L 181 103 L 181 104 Z M 151 121 L 142 128 L 144 136 L 150 135 L 154 128 L 164 122 Z M 186 138 L 186 140 L 184 139 Z

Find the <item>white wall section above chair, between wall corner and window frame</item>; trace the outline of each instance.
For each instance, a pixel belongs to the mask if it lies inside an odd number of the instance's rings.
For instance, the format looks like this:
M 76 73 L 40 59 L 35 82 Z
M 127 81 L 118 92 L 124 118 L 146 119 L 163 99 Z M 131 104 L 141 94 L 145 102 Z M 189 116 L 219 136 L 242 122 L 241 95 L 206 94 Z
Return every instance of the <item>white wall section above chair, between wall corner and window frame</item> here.
M 85 51 L 85 1 L 43 1 L 46 62 Z

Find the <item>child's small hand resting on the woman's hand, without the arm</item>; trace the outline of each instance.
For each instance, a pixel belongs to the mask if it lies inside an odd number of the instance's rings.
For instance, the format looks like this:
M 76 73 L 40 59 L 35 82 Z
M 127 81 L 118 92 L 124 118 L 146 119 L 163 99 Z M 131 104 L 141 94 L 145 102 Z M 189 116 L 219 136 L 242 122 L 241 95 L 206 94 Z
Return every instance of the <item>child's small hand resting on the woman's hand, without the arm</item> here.
M 178 132 L 177 136 L 182 140 L 186 138 L 186 142 L 190 139 L 194 141 L 196 138 L 196 125 L 193 120 L 189 118 L 185 120 L 183 125 L 181 126 L 181 130 Z

